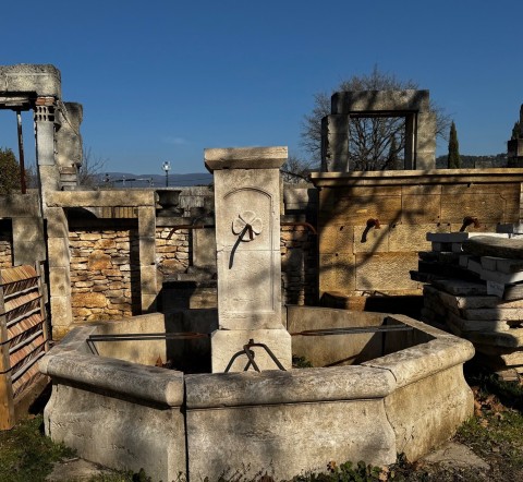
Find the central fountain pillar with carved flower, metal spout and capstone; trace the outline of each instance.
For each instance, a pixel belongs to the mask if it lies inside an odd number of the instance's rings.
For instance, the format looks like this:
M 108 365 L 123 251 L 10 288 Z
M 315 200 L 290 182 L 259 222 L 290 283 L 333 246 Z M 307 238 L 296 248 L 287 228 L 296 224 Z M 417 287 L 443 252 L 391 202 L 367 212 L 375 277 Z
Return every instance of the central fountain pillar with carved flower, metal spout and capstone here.
M 280 173 L 287 147 L 205 149 L 214 172 L 219 329 L 212 372 L 223 372 L 250 339 L 291 367 L 291 337 L 281 322 Z M 260 370 L 277 370 L 253 348 Z M 231 371 L 243 371 L 245 356 Z

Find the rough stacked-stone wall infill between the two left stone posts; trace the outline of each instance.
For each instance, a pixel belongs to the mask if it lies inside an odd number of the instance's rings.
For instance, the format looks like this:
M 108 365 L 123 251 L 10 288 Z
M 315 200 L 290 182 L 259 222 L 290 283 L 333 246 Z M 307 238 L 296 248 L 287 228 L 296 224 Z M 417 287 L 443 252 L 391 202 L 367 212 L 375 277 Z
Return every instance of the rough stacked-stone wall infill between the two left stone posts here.
M 74 322 L 139 313 L 137 229 L 70 231 Z

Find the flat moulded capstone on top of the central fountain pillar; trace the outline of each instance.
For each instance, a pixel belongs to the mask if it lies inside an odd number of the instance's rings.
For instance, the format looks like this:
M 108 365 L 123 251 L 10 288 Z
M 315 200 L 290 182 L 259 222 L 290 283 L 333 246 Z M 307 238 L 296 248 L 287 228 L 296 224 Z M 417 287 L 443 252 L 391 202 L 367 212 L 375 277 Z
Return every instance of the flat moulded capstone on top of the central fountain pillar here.
M 226 147 L 204 150 L 205 167 L 220 169 L 279 169 L 288 158 L 287 146 Z

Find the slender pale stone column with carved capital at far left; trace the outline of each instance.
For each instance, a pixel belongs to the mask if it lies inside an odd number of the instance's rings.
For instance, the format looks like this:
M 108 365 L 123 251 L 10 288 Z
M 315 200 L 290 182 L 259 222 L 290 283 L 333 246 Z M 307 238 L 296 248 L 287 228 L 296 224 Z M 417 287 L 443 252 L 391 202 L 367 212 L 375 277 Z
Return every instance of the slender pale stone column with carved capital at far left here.
M 46 194 L 60 189 L 60 174 L 54 159 L 54 97 L 38 97 L 34 107 L 36 131 L 36 162 L 41 203 L 46 206 Z M 45 217 L 45 213 L 44 213 Z

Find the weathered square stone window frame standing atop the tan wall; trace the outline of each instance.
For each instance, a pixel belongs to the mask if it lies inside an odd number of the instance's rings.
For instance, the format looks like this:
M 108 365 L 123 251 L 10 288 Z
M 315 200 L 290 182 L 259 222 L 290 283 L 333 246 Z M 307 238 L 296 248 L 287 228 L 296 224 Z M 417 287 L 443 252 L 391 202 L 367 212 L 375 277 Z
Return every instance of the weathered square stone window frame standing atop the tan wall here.
M 428 91 L 337 92 L 331 113 L 321 119 L 321 171 L 353 170 L 349 156 L 349 123 L 354 118 L 405 119 L 403 169 L 436 167 L 436 115 Z

